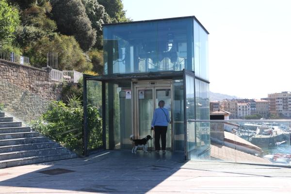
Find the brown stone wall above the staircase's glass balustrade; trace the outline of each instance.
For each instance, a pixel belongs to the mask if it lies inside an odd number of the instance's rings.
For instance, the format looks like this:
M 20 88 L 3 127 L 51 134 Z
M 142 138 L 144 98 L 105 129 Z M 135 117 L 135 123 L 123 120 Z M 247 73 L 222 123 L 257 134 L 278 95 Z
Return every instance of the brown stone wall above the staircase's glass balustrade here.
M 47 100 L 61 98 L 62 83 L 51 81 L 49 69 L 0 60 L 0 78 Z

